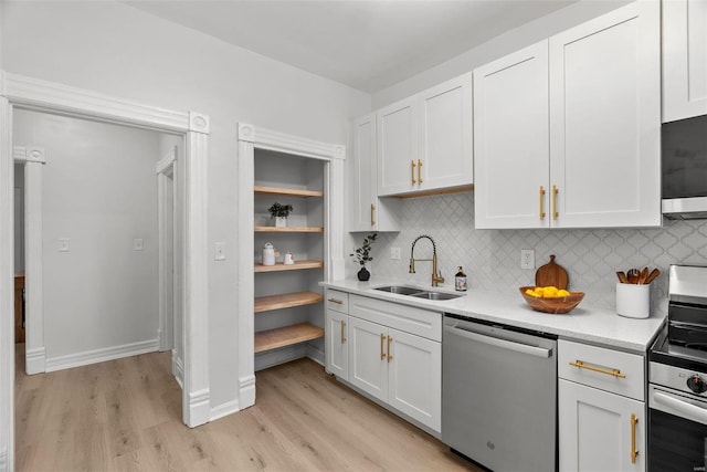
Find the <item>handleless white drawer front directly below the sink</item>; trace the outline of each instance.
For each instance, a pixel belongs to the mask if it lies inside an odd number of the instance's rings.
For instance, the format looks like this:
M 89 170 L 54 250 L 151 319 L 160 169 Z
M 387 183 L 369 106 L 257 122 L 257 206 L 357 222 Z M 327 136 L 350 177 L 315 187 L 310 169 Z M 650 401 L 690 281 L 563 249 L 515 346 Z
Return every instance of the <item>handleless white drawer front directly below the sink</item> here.
M 349 295 L 349 315 L 442 342 L 442 314 L 414 306 Z

